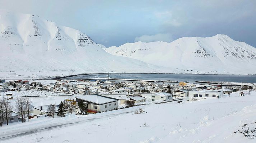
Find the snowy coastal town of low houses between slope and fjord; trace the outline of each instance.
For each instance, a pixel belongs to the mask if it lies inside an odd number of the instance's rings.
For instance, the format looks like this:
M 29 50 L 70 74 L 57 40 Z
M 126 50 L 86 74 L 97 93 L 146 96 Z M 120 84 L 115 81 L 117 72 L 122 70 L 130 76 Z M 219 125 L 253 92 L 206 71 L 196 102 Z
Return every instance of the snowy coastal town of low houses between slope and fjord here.
M 255 84 L 230 85 L 228 83 L 188 83 L 114 81 L 114 80 L 0 80 L 1 99 L 7 99 L 16 106 L 18 98 L 28 98 L 31 111 L 28 118 L 57 116 L 60 102 L 72 104 L 65 106 L 66 113 L 79 114 L 78 103 L 85 105 L 85 114 L 95 114 L 117 109 L 160 104 L 166 102 L 197 101 L 222 98 L 242 90 L 253 91 Z M 247 94 L 249 94 L 248 92 Z M 54 107 L 50 111 L 48 107 Z M 9 123 L 21 122 L 19 113 L 11 111 Z M 5 124 L 6 121 L 3 122 Z

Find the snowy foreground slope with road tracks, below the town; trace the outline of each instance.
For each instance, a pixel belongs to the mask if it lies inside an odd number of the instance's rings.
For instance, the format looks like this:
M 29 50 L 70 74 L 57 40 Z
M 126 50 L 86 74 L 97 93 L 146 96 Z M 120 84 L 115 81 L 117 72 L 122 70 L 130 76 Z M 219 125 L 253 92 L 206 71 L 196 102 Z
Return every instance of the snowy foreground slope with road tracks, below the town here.
M 1 127 L 0 142 L 255 143 L 256 91 L 243 92 L 244 97 L 236 92 L 220 99 L 147 104 L 87 116 L 32 118 Z M 141 107 L 147 113 L 134 114 Z

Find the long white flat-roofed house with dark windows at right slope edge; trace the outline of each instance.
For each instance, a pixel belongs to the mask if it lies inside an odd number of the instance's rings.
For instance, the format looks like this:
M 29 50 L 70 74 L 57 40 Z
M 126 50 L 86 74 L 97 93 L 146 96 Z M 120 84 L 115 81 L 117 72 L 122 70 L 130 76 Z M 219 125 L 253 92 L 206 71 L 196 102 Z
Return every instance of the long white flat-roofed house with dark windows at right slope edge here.
M 204 98 L 221 98 L 223 95 L 223 90 L 219 91 L 211 91 L 211 90 L 203 90 L 203 91 L 188 91 L 188 100 L 200 100 Z

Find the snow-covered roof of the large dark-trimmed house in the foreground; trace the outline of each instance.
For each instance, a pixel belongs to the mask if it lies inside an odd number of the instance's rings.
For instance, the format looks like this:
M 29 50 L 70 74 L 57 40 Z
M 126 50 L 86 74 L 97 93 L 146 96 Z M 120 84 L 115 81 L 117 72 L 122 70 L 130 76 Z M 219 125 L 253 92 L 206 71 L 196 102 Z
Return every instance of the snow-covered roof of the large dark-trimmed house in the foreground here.
M 118 99 L 116 99 L 116 98 L 101 96 L 101 95 L 97 95 L 97 94 L 77 96 L 75 98 L 82 99 L 82 100 L 88 101 L 88 102 L 98 103 L 98 104 L 104 104 L 104 103 L 118 101 Z

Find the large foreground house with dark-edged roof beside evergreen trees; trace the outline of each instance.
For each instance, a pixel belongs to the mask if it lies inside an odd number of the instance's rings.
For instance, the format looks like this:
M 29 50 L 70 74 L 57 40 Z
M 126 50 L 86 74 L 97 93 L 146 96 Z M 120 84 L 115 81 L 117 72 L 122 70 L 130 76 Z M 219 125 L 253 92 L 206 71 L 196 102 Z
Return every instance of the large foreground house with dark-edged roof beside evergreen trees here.
M 85 103 L 88 113 L 111 111 L 118 106 L 118 99 L 97 94 L 77 96 L 75 101 Z

